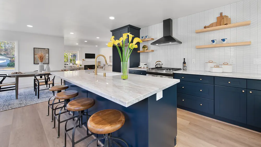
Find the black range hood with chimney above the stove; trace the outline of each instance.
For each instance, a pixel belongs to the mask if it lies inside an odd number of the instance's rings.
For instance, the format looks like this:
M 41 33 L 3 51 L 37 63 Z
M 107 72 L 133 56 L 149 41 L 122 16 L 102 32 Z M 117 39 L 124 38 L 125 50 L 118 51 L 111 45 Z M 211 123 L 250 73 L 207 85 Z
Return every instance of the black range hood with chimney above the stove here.
M 152 42 L 151 45 L 163 46 L 182 43 L 172 35 L 172 19 L 163 20 L 163 37 L 159 38 L 155 42 Z

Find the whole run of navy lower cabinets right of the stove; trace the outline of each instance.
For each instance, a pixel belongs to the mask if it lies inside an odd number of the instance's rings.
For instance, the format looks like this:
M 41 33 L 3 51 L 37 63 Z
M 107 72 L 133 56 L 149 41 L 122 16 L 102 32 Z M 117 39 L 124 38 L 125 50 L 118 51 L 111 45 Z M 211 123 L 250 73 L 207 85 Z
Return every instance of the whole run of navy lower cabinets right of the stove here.
M 177 107 L 261 132 L 261 80 L 174 74 Z

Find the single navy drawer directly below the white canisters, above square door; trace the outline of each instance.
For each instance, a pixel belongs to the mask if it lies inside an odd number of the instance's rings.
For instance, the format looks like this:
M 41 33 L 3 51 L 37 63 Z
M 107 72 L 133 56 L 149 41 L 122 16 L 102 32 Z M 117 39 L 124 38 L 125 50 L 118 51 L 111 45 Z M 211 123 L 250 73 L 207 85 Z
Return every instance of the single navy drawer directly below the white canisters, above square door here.
M 246 79 L 215 77 L 215 85 L 246 88 Z

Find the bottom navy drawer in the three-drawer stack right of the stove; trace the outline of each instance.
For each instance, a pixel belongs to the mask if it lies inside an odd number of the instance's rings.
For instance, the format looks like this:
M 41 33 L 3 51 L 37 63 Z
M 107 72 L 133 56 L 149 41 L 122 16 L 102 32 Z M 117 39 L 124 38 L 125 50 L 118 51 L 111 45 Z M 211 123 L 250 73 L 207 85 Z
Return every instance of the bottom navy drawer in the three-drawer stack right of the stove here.
M 214 101 L 211 99 L 177 93 L 177 105 L 214 114 Z

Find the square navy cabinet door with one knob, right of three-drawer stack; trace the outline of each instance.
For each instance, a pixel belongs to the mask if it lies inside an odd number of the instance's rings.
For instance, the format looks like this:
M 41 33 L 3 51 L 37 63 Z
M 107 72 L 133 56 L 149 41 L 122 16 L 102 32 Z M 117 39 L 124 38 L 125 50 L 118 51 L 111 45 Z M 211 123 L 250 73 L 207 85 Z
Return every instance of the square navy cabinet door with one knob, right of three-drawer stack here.
M 247 90 L 215 85 L 215 115 L 246 124 Z

